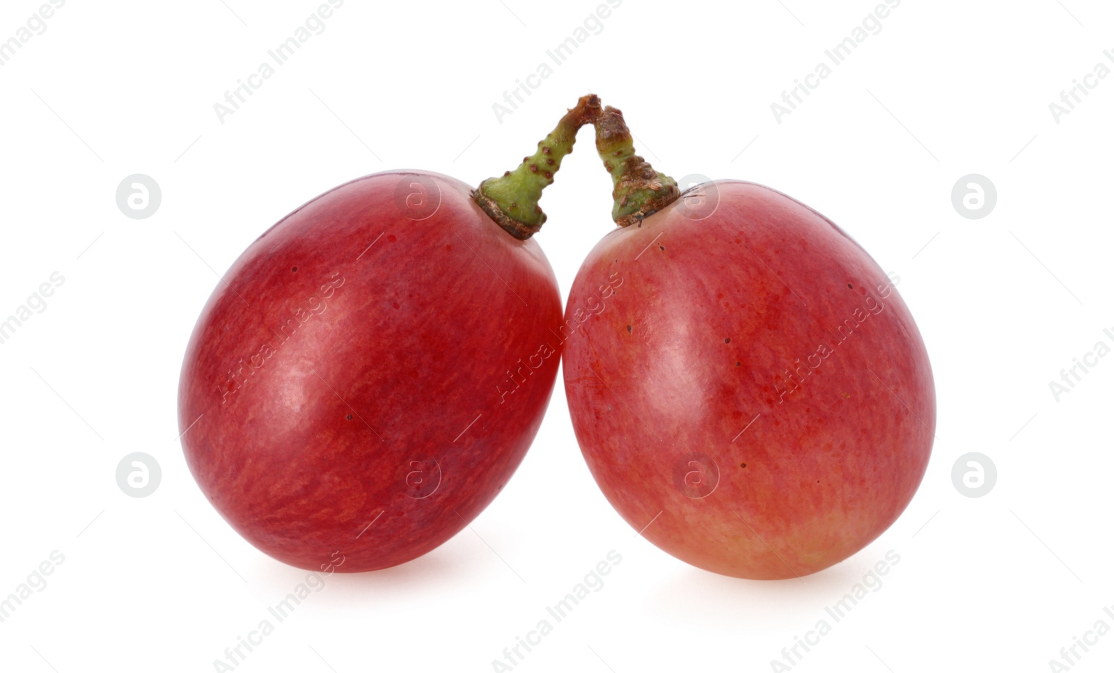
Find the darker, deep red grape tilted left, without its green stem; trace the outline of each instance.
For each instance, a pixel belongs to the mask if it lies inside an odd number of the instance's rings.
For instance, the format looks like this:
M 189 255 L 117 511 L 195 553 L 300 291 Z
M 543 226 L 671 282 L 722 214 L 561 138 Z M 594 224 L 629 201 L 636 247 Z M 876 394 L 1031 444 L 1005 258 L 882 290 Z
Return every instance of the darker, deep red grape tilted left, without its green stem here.
M 416 558 L 522 460 L 560 314 L 537 242 L 500 228 L 465 183 L 392 172 L 342 185 L 256 240 L 206 304 L 179 386 L 189 469 L 284 563 Z

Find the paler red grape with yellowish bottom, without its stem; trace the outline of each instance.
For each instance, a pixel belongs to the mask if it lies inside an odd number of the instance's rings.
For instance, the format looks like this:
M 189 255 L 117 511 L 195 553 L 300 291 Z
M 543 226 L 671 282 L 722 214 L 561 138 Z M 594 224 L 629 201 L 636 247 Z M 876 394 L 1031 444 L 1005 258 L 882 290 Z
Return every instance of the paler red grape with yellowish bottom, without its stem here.
M 899 279 L 752 183 L 639 217 L 592 251 L 566 311 L 565 387 L 597 484 L 649 542 L 715 573 L 789 578 L 851 556 L 909 504 L 932 446 Z

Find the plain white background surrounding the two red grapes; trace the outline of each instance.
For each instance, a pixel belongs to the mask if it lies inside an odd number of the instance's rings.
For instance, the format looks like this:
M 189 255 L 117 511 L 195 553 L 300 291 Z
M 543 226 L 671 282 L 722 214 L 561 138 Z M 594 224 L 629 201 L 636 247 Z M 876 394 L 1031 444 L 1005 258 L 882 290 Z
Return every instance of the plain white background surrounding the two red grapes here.
M 770 671 L 890 549 L 900 563 L 881 588 L 795 670 L 1047 671 L 1097 620 L 1114 626 L 1114 357 L 1058 402 L 1048 387 L 1114 342 L 1114 77 L 1058 124 L 1048 107 L 1097 62 L 1114 68 L 1108 3 L 905 0 L 779 124 L 771 103 L 872 0 L 625 0 L 501 121 L 492 104 L 595 0 L 349 0 L 218 121 L 214 103 L 317 4 L 70 1 L 0 67 L 0 316 L 52 272 L 66 279 L 0 344 L 0 597 L 65 555 L 0 624 L 3 670 L 212 671 L 256 628 L 305 572 L 224 523 L 176 440 L 182 354 L 216 273 L 353 177 L 501 174 L 589 91 L 626 113 L 655 167 L 778 188 L 900 275 L 938 398 L 912 504 L 803 581 L 698 570 L 608 506 L 558 382 L 525 462 L 471 530 L 400 567 L 330 577 L 237 670 L 491 671 L 612 549 L 623 560 L 605 586 L 517 670 Z M 4 2 L 0 39 L 37 7 Z M 163 191 L 147 220 L 115 202 L 137 173 Z M 973 173 L 998 193 L 980 220 L 951 204 Z M 613 226 L 609 189 L 585 129 L 541 202 L 537 240 L 563 295 Z M 146 498 L 116 482 L 134 451 L 162 466 Z M 981 498 L 952 485 L 969 451 L 997 466 Z M 1112 665 L 1108 634 L 1075 670 Z

